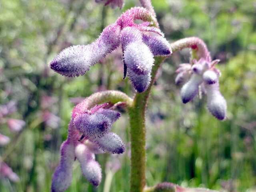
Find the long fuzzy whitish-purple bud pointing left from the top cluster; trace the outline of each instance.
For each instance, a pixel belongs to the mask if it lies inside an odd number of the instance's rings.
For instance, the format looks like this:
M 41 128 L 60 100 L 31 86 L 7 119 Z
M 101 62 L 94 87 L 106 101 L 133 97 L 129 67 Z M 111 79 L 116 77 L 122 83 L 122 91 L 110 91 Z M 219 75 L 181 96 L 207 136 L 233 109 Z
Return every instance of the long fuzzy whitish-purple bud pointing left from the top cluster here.
M 62 50 L 50 62 L 50 68 L 68 77 L 83 75 L 90 66 L 99 62 L 106 54 L 119 46 L 119 33 L 120 26 L 115 24 L 107 26 L 92 44 L 76 45 Z

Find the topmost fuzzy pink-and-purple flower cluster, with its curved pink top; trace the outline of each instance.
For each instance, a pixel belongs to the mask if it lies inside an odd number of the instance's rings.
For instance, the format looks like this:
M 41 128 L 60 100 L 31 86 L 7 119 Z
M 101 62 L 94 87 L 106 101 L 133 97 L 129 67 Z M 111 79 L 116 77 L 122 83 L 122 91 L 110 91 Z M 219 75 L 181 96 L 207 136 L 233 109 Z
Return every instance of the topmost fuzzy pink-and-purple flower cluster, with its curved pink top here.
M 135 24 L 136 19 L 143 22 Z M 153 20 L 152 14 L 144 8 L 127 10 L 114 24 L 107 26 L 92 44 L 71 46 L 62 50 L 50 62 L 50 68 L 64 76 L 83 75 L 90 66 L 121 44 L 124 77 L 127 70 L 134 88 L 138 92 L 144 92 L 150 84 L 154 56 L 168 56 L 172 53 L 164 34 L 152 26 Z

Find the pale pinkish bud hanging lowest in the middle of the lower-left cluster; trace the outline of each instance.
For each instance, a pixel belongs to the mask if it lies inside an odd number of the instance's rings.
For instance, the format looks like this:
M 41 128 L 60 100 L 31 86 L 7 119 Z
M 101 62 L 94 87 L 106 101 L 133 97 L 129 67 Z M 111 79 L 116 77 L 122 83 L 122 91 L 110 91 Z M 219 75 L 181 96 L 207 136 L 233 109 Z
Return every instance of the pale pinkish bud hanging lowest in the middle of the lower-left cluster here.
M 82 143 L 76 146 L 75 154 L 80 162 L 84 177 L 94 186 L 98 186 L 101 182 L 102 174 L 100 164 L 94 160 L 95 155 Z

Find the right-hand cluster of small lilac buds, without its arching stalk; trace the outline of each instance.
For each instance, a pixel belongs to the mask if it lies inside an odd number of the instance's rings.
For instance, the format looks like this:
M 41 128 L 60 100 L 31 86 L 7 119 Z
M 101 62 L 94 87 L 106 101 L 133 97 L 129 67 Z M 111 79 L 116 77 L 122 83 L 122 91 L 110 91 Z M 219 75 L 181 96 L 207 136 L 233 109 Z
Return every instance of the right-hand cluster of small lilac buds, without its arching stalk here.
M 218 77 L 220 71 L 214 68 L 219 60 L 211 61 L 210 57 L 193 60 L 191 64 L 181 64 L 176 70 L 178 76 L 176 84 L 184 83 L 181 89 L 181 99 L 183 103 L 191 101 L 199 92 L 199 86 L 206 92 L 207 108 L 219 120 L 226 118 L 226 100 L 219 91 Z

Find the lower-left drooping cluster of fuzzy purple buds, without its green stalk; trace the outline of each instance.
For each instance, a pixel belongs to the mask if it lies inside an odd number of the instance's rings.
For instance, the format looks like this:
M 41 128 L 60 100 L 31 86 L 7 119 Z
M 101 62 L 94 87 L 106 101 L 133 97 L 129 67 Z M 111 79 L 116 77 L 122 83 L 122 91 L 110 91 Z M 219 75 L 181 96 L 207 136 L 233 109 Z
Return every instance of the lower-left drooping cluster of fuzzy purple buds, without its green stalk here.
M 125 151 L 122 139 L 110 132 L 120 113 L 106 109 L 107 106 L 108 104 L 104 103 L 89 110 L 88 99 L 85 99 L 74 107 L 68 128 L 68 139 L 61 146 L 60 164 L 53 174 L 52 192 L 68 189 L 72 180 L 72 164 L 76 159 L 80 162 L 84 177 L 94 186 L 98 186 L 102 174 L 95 154 L 121 154 Z

